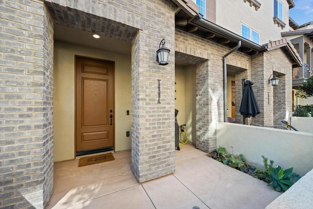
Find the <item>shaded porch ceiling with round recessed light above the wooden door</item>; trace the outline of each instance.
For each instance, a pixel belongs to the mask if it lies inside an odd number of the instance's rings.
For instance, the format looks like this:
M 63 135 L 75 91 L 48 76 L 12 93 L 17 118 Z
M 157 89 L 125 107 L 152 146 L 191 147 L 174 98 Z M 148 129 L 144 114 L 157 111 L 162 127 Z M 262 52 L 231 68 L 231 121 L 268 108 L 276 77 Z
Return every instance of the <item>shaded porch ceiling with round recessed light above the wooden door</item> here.
M 46 2 L 46 5 L 55 23 L 54 39 L 131 54 L 137 28 L 56 3 Z M 94 39 L 92 34 L 100 38 Z

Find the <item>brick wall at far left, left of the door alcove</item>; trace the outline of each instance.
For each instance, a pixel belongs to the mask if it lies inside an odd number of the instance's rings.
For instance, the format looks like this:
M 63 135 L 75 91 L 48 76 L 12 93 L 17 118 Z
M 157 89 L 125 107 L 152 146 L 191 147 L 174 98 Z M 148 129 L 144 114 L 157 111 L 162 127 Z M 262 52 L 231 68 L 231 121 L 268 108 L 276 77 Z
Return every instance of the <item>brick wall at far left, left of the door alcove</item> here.
M 2 0 L 0 11 L 0 207 L 44 208 L 53 189 L 53 20 L 41 0 Z

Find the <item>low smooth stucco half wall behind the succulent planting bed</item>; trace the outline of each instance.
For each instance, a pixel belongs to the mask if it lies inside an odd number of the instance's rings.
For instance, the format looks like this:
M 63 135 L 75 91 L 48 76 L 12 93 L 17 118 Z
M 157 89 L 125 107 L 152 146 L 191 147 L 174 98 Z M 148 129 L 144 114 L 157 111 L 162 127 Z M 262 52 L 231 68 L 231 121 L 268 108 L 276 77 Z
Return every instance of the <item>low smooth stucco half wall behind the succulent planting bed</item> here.
M 227 153 L 243 154 L 247 163 L 264 169 L 262 155 L 283 169 L 303 176 L 313 168 L 313 134 L 248 126 L 234 123 L 217 123 L 217 147 Z

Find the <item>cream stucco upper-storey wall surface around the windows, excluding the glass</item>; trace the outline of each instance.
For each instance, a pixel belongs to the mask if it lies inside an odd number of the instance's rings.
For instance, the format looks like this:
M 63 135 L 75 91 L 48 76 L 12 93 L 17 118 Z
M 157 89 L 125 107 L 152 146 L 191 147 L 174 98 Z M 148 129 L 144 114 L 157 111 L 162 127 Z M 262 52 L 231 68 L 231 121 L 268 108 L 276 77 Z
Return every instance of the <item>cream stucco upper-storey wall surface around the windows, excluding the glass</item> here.
M 271 0 L 262 1 L 257 11 L 254 6 L 250 7 L 248 1 L 245 3 L 243 0 L 217 0 L 216 23 L 238 35 L 241 35 L 241 24 L 244 23 L 260 33 L 260 45 L 268 43 L 269 40 L 280 40 L 280 33 L 289 31 L 289 5 L 286 0 L 282 3 L 284 4 L 282 21 L 286 23 L 284 29 L 273 22 L 274 12 Z

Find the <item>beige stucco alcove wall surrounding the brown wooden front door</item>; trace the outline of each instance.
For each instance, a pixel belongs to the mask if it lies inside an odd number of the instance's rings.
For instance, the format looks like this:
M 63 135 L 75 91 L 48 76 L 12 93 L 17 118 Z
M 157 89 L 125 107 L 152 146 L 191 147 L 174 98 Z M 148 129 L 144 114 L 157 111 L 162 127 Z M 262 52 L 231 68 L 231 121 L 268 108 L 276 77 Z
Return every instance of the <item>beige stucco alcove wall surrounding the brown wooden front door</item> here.
M 75 55 L 115 62 L 115 151 L 131 149 L 131 56 L 55 41 L 54 162 L 75 158 Z M 126 115 L 130 110 L 130 115 Z

